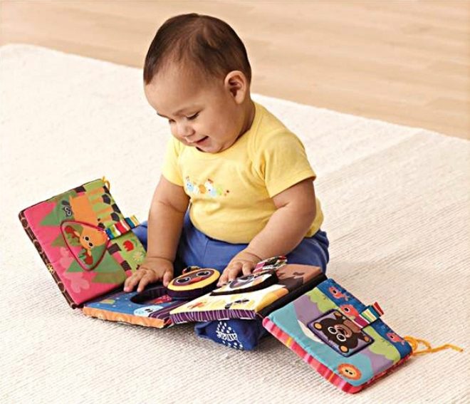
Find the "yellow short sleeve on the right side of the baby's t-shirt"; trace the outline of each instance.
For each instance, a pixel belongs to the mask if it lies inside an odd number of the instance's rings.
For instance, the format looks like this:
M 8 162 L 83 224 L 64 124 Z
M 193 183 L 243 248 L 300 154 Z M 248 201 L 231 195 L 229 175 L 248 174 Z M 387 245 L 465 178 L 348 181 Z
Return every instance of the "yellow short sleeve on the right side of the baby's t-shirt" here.
M 288 130 L 268 137 L 258 143 L 258 170 L 268 190 L 269 197 L 287 190 L 307 178 L 315 180 L 315 172 L 308 162 L 301 140 Z

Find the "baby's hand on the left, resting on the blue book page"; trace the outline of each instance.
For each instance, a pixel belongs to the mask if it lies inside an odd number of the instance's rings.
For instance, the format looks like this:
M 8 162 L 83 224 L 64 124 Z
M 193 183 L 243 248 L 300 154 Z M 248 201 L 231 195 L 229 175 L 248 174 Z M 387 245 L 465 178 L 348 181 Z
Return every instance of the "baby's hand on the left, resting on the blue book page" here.
M 124 291 L 132 291 L 139 284 L 137 291 L 143 291 L 147 284 L 162 281 L 167 286 L 173 279 L 173 263 L 169 259 L 147 257 L 139 269 L 124 282 Z

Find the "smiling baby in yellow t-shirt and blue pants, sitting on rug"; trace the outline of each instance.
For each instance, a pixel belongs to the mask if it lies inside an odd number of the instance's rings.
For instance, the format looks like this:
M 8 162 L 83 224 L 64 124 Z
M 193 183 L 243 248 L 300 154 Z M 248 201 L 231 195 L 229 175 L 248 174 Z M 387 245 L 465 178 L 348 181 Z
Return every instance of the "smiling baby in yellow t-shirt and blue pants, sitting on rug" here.
M 251 66 L 235 31 L 199 14 L 165 21 L 144 82 L 172 138 L 148 222 L 135 229 L 147 258 L 125 291 L 167 286 L 191 265 L 220 271 L 220 286 L 277 255 L 325 271 L 315 172 L 296 135 L 251 100 Z

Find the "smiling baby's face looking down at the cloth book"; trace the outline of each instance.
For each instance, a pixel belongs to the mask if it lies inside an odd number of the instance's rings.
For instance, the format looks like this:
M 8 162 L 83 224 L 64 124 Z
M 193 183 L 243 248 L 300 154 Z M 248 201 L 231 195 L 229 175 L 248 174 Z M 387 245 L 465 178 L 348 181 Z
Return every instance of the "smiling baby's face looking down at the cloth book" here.
M 145 86 L 145 96 L 184 145 L 216 153 L 241 135 L 243 108 L 222 79 L 202 83 L 178 68 L 164 69 Z

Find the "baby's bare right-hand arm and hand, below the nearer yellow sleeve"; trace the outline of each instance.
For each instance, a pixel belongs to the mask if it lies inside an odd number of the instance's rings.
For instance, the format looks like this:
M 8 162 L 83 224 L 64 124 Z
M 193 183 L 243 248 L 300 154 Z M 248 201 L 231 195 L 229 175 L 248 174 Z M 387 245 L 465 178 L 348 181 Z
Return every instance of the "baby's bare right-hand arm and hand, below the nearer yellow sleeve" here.
M 236 254 L 226 266 L 219 285 L 243 274 L 250 274 L 266 258 L 287 255 L 307 234 L 316 214 L 313 178 L 308 178 L 273 197 L 276 212 L 256 234 L 246 249 Z

